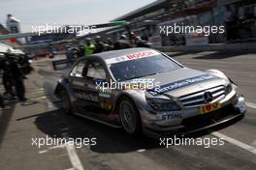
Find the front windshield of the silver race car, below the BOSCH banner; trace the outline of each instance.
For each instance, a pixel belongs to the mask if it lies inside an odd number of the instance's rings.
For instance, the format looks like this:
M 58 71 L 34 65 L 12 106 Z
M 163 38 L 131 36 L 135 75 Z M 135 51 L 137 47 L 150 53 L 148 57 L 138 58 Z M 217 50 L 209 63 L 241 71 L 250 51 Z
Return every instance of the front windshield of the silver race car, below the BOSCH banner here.
M 164 55 L 154 55 L 136 60 L 114 63 L 110 69 L 117 81 L 140 78 L 166 71 L 175 71 L 181 66 Z

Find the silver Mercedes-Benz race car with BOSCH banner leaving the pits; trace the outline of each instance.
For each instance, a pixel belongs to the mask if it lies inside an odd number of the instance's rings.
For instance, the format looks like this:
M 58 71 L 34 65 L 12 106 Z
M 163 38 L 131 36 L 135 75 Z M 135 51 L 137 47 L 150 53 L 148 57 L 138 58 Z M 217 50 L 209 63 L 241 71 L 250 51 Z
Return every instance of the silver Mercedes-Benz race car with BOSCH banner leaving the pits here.
M 128 133 L 161 133 L 241 118 L 245 100 L 236 88 L 221 71 L 196 71 L 160 51 L 130 48 L 80 58 L 54 93 L 69 114 Z

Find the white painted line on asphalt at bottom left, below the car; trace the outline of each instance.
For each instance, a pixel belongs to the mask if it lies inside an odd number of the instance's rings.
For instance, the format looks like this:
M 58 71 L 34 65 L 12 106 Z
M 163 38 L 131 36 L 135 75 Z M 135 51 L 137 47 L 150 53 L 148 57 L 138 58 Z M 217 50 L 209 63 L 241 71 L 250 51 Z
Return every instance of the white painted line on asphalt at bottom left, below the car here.
M 68 138 L 68 134 L 66 132 L 62 133 L 62 136 Z M 76 153 L 76 148 L 74 145 L 66 145 L 66 149 L 71 161 L 71 164 L 76 170 L 83 170 L 83 166 L 80 162 L 80 157 Z

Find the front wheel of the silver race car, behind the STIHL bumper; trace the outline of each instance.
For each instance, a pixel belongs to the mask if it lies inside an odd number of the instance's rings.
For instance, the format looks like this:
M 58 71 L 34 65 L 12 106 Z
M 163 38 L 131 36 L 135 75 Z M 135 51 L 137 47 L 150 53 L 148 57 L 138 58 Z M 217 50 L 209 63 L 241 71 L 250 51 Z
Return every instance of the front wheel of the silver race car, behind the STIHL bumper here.
M 141 133 L 141 118 L 132 99 L 123 97 L 119 102 L 118 113 L 126 132 L 129 134 Z

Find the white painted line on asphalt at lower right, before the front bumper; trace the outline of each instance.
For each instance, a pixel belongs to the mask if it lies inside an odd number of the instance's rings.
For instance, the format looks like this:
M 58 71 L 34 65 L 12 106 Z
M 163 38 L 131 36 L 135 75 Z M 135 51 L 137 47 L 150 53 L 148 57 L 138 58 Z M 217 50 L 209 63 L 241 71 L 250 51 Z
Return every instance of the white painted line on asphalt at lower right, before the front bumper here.
M 216 137 L 219 137 L 219 138 L 222 138 L 223 140 L 226 140 L 227 142 L 230 142 L 232 143 L 233 145 L 236 145 L 238 147 L 240 147 L 241 149 L 243 150 L 246 150 L 252 154 L 255 154 L 256 155 L 256 148 L 252 147 L 252 146 L 249 146 L 245 143 L 242 143 L 236 139 L 233 139 L 232 137 L 229 137 L 229 136 L 226 136 L 220 132 L 213 132 L 211 133 L 212 135 L 216 136 Z

